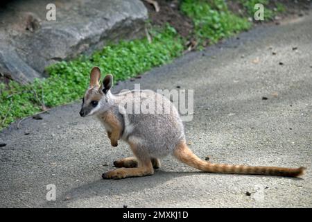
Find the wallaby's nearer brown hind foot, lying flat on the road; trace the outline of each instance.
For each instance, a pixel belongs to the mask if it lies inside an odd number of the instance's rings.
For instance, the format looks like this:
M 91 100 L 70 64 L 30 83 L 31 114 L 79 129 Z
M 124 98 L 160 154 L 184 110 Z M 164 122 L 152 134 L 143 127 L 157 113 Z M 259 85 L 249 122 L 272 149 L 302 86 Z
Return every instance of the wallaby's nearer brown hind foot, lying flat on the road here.
M 113 171 L 108 171 L 107 173 L 103 173 L 103 179 L 122 179 L 122 178 L 130 178 L 135 176 L 149 176 L 153 175 L 154 169 L 152 163 L 135 168 L 119 168 Z

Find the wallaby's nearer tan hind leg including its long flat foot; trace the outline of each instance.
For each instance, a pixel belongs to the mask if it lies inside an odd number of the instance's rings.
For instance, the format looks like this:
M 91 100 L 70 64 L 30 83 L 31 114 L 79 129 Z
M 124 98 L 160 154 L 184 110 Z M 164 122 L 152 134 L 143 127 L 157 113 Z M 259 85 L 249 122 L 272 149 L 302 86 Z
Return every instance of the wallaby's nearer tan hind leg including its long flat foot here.
M 135 176 L 148 176 L 153 175 L 154 169 L 152 161 L 148 156 L 148 153 L 144 153 L 144 149 L 138 147 L 136 144 L 128 142 L 132 149 L 132 152 L 137 157 L 137 167 L 135 168 L 119 168 L 113 171 L 103 173 L 103 179 L 122 179 Z

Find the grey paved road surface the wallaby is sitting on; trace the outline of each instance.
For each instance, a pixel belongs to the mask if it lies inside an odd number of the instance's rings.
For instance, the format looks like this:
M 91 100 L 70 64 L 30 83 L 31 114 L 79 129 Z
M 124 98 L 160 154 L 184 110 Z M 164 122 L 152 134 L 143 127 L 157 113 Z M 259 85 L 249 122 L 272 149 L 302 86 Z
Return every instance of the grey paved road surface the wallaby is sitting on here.
M 0 207 L 312 207 L 311 24 L 312 13 L 260 26 L 115 87 L 195 89 L 193 121 L 185 123 L 194 153 L 212 162 L 309 167 L 303 178 L 201 173 L 166 157 L 154 176 L 102 180 L 130 149 L 111 147 L 100 124 L 80 118 L 73 103 L 0 133 L 8 144 L 0 148 Z M 46 201 L 49 184 L 55 201 Z

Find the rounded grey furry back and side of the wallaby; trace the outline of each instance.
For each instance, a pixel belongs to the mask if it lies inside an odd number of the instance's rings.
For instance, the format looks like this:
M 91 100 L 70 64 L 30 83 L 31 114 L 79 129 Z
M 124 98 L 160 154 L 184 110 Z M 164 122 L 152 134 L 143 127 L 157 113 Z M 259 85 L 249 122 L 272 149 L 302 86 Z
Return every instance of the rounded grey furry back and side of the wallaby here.
M 121 98 L 119 104 L 127 104 L 125 108 L 132 104 L 132 111 L 130 109 L 123 114 L 127 132 L 123 138 L 137 138 L 151 157 L 173 153 L 175 146 L 185 139 L 182 120 L 173 103 L 165 96 L 151 90 L 141 90 L 140 96 L 135 96 L 132 91 L 117 97 Z

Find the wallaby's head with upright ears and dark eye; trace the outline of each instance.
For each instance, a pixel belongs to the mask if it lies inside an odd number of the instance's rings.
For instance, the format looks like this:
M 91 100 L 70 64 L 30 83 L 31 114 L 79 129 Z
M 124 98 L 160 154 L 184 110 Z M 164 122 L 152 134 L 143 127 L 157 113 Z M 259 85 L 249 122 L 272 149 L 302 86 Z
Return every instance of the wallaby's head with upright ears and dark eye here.
M 90 73 L 90 85 L 83 97 L 83 105 L 79 112 L 81 117 L 87 117 L 98 112 L 105 112 L 112 106 L 112 87 L 113 77 L 111 74 L 105 76 L 103 83 L 100 84 L 101 70 L 93 67 Z

